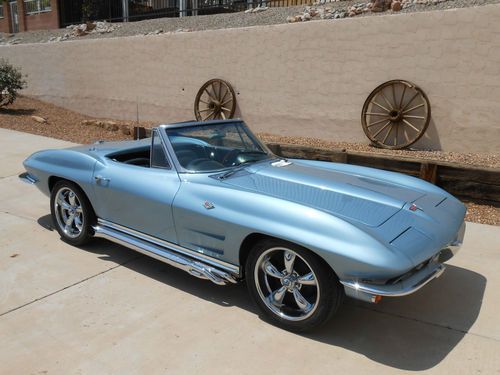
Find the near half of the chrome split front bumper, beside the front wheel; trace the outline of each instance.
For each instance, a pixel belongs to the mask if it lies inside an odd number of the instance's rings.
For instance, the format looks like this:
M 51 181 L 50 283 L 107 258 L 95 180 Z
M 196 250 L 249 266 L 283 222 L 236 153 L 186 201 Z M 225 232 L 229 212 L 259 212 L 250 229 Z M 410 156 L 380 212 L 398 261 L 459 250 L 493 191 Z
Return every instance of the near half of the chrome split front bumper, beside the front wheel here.
M 425 267 L 422 271 L 417 272 L 410 278 L 398 282 L 394 285 L 372 285 L 359 283 L 355 280 L 340 280 L 340 283 L 344 285 L 345 288 L 354 289 L 355 291 L 368 293 L 375 296 L 402 297 L 408 294 L 415 293 L 417 290 L 424 287 L 433 279 L 441 276 L 441 274 L 446 269 L 443 264 L 438 264 L 435 267 L 433 266 L 435 266 L 435 264 Z M 424 275 L 423 277 L 422 274 Z

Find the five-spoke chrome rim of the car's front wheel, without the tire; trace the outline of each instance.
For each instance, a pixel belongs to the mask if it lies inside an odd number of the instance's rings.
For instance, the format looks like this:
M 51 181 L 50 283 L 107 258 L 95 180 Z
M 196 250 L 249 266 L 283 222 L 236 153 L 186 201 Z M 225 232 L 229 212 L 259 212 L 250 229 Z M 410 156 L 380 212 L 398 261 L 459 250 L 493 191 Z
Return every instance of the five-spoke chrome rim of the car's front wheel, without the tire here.
M 274 314 L 300 321 L 314 314 L 320 299 L 316 274 L 293 250 L 273 247 L 257 259 L 254 280 L 260 298 Z

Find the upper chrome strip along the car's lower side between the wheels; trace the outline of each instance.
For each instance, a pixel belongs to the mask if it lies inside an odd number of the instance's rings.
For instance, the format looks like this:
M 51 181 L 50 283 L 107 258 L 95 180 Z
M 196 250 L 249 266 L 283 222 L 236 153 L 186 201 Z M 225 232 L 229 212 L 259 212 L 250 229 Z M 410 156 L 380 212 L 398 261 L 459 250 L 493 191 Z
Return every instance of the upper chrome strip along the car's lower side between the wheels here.
M 185 247 L 173 244 L 173 243 L 168 242 L 168 241 L 160 240 L 159 238 L 149 236 L 147 234 L 138 232 L 134 229 L 124 227 L 120 224 L 116 224 L 116 223 L 113 223 L 111 221 L 107 221 L 104 219 L 97 219 L 97 224 L 98 225 L 94 228 L 94 230 L 96 230 L 96 228 L 111 229 L 111 230 L 120 232 L 124 235 L 127 235 L 129 237 L 134 237 L 140 241 L 148 242 L 148 243 L 151 243 L 153 245 L 159 246 L 160 248 L 168 249 L 170 251 L 174 251 L 174 252 L 179 253 L 181 255 L 185 255 L 185 256 L 188 256 L 190 258 L 194 258 L 195 260 L 197 260 L 199 262 L 203 262 L 203 263 L 205 263 L 209 266 L 212 266 L 212 267 L 217 267 L 225 272 L 228 272 L 230 274 L 235 275 L 236 277 L 240 276 L 240 267 L 235 266 L 234 264 L 227 263 L 227 262 L 224 262 L 222 260 L 212 258 L 208 255 L 198 253 L 196 251 L 187 249 Z M 96 230 L 96 233 L 97 233 L 97 230 Z M 125 245 L 125 246 L 127 246 L 127 245 Z

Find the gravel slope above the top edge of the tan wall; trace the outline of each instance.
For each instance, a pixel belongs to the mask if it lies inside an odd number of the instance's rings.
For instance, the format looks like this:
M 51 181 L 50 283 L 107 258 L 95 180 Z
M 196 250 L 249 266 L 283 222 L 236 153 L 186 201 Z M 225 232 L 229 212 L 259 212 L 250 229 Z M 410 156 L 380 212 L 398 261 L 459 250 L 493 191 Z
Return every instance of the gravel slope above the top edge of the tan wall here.
M 424 1 L 424 0 L 419 0 Z M 397 13 L 408 12 L 421 12 L 433 11 L 451 8 L 464 8 L 471 6 L 481 6 L 486 4 L 500 3 L 500 0 L 444 0 L 439 3 L 434 3 L 433 0 L 427 4 L 411 4 L 410 7 L 402 9 Z M 368 0 L 365 0 L 365 4 Z M 362 1 L 337 1 L 327 3 L 325 6 L 330 7 L 332 10 L 346 10 L 355 4 L 361 4 Z M 296 16 L 302 13 L 305 9 L 304 5 L 294 7 L 276 7 L 269 8 L 266 11 L 258 13 L 224 13 L 215 14 L 210 16 L 196 16 L 196 17 L 183 17 L 183 18 L 159 18 L 138 22 L 129 23 L 116 23 L 116 29 L 110 33 L 104 34 L 89 34 L 86 36 L 78 37 L 78 39 L 90 38 L 109 38 L 131 35 L 143 35 L 155 32 L 179 32 L 179 31 L 195 31 L 195 30 L 212 30 L 223 28 L 246 27 L 256 25 L 274 25 L 286 23 L 288 16 Z M 384 14 L 391 14 L 392 11 L 382 13 L 363 13 L 356 17 L 377 16 Z M 314 18 L 316 20 L 319 17 Z M 337 20 L 327 20 L 325 22 L 337 22 Z M 18 34 L 4 34 L 0 33 L 0 44 L 5 43 L 40 43 L 48 42 L 51 38 L 63 37 L 69 30 L 40 30 L 31 32 L 22 32 Z M 75 37 L 76 38 L 76 37 Z M 70 38 L 70 39 L 75 39 Z

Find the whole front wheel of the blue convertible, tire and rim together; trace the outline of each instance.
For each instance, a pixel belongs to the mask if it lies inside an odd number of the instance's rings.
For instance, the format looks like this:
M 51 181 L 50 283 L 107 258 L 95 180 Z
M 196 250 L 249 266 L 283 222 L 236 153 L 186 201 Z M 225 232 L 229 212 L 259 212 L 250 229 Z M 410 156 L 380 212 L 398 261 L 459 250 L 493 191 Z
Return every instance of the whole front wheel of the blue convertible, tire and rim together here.
M 250 294 L 265 316 L 290 331 L 322 325 L 344 296 L 335 273 L 321 259 L 284 241 L 259 242 L 245 272 Z

